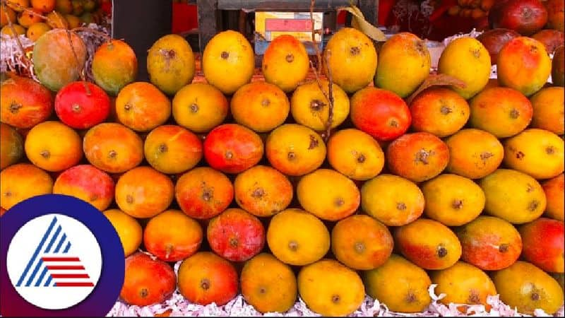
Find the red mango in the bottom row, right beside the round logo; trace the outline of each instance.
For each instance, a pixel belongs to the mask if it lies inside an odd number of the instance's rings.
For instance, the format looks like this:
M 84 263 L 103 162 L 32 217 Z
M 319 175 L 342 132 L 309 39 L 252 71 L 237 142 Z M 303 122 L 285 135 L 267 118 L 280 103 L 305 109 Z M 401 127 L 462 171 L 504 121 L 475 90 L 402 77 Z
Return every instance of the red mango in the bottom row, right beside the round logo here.
M 119 297 L 129 305 L 148 306 L 171 297 L 177 277 L 169 264 L 138 252 L 126 258 L 126 275 Z

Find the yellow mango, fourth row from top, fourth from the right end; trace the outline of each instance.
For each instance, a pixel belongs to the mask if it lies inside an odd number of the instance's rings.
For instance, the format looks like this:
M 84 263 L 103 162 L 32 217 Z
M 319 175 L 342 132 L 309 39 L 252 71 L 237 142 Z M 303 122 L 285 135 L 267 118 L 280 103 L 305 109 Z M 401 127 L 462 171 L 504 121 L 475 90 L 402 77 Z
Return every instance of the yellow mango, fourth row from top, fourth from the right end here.
M 361 187 L 362 210 L 388 226 L 402 226 L 420 218 L 424 194 L 414 182 L 382 174 Z

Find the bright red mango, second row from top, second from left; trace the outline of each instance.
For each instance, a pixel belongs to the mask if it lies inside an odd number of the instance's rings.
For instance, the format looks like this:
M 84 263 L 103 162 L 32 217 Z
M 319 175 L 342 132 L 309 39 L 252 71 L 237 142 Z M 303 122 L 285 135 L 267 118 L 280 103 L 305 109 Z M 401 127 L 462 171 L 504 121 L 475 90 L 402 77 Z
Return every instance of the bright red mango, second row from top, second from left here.
M 104 122 L 110 113 L 110 98 L 96 84 L 69 83 L 55 97 L 55 112 L 67 126 L 88 129 Z

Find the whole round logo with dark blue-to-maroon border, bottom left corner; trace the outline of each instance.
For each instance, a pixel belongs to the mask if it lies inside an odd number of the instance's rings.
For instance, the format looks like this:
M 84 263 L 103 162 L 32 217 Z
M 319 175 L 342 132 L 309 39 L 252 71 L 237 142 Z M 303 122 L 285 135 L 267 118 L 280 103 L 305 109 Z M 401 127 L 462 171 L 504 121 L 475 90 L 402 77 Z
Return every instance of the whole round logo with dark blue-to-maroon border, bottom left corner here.
M 85 201 L 47 194 L 0 218 L 2 316 L 105 316 L 124 282 L 112 223 Z

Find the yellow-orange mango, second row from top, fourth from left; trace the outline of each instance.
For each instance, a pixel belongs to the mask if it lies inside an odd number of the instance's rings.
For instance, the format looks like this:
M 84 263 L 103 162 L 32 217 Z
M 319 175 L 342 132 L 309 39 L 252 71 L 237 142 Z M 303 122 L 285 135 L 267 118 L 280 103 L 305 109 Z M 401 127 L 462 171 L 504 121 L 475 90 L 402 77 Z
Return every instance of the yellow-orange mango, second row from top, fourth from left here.
M 222 92 L 206 83 L 184 86 L 172 99 L 174 121 L 195 133 L 205 133 L 222 124 L 229 110 L 230 104 Z

